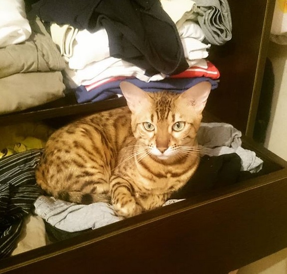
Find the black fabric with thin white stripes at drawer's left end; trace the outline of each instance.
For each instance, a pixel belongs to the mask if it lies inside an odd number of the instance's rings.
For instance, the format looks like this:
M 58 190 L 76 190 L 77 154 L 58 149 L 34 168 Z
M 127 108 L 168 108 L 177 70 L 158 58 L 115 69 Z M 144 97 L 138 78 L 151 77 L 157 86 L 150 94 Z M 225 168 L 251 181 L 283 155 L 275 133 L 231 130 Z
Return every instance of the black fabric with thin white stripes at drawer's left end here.
M 33 149 L 0 159 L 0 259 L 15 248 L 23 217 L 41 194 L 34 169 L 42 149 Z

